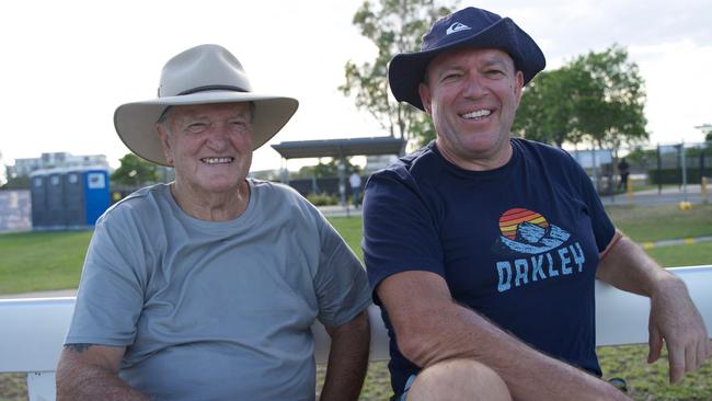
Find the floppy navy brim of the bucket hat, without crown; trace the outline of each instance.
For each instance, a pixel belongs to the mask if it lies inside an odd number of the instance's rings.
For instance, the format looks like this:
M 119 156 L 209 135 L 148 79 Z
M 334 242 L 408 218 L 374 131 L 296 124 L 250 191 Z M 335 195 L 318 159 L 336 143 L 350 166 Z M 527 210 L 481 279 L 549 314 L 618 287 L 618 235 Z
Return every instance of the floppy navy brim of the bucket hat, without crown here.
M 524 84 L 527 84 L 547 65 L 537 43 L 514 21 L 504 18 L 483 31 L 447 45 L 426 51 L 395 55 L 388 68 L 388 81 L 395 100 L 424 110 L 418 85 L 425 78 L 428 64 L 445 51 L 462 47 L 496 48 L 509 54 L 515 68 L 524 75 Z

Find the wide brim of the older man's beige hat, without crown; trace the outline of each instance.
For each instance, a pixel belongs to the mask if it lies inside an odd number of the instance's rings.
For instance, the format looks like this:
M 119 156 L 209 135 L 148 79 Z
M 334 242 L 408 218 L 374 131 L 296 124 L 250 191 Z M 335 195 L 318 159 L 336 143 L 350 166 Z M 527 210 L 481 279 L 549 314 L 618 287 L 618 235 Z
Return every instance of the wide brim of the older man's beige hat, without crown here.
M 118 137 L 134 153 L 150 162 L 169 165 L 156 129 L 156 123 L 165 107 L 232 102 L 253 102 L 255 105 L 252 121 L 253 150 L 272 139 L 299 107 L 299 102 L 292 98 L 234 91 L 197 92 L 123 104 L 114 113 L 114 126 Z

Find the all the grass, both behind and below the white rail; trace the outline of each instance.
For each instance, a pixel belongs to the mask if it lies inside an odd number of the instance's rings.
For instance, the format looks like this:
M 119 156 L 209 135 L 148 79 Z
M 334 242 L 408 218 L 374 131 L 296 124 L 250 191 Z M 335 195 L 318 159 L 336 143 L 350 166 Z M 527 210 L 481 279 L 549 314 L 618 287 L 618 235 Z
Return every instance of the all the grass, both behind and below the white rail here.
M 681 211 L 659 207 L 615 206 L 611 219 L 638 242 L 712 236 L 712 205 Z M 359 218 L 332 218 L 334 227 L 363 259 Z M 0 234 L 0 294 L 74 288 L 91 237 L 90 231 Z M 648 254 L 663 266 L 712 263 L 712 242 L 653 248 Z M 604 376 L 623 377 L 636 401 L 712 400 L 712 363 L 688 375 L 679 386 L 668 386 L 665 360 L 647 365 L 646 346 L 599 348 Z M 319 369 L 323 379 L 323 367 Z M 0 375 L 0 400 L 26 400 L 21 375 Z M 390 394 L 386 363 L 371 363 L 361 400 L 384 400 Z

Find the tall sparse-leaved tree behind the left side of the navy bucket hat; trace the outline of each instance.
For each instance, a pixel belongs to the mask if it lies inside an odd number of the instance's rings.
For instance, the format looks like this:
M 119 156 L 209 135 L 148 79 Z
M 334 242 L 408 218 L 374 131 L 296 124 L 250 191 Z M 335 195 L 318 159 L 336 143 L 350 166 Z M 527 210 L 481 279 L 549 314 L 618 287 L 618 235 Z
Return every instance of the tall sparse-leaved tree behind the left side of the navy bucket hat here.
M 435 0 L 380 0 L 375 3 L 364 1 L 353 23 L 376 45 L 378 56 L 372 62 L 360 66 L 346 62 L 346 82 L 338 90 L 346 96 L 354 95 L 356 106 L 368 111 L 391 136 L 406 140 L 433 138 L 435 131 L 427 115 L 410 104 L 395 102 L 390 94 L 388 62 L 398 53 L 417 50 L 421 36 L 435 20 L 449 14 L 450 9 L 437 7 Z

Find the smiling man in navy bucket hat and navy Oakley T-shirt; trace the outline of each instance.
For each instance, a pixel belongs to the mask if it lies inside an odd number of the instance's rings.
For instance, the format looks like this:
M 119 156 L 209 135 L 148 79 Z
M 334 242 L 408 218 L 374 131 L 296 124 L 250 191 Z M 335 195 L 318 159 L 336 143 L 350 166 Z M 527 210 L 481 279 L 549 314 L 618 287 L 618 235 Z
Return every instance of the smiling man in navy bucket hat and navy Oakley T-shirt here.
M 681 280 L 616 230 L 564 151 L 510 138 L 544 68 L 510 19 L 467 8 L 389 67 L 436 139 L 369 179 L 364 253 L 391 336 L 395 400 L 618 400 L 595 352 L 595 278 L 652 299 L 670 380 L 710 354 Z

